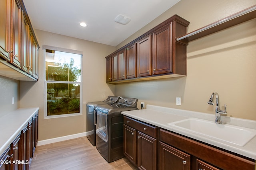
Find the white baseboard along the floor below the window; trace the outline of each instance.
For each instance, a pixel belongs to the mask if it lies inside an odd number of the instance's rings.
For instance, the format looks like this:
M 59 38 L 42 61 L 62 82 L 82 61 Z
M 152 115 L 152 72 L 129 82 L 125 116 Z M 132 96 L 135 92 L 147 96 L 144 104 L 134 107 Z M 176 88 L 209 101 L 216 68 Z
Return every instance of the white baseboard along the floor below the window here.
M 66 140 L 75 139 L 75 138 L 78 138 L 78 137 L 85 137 L 87 135 L 90 135 L 90 132 L 83 132 L 83 133 L 77 133 L 77 134 L 63 136 L 63 137 L 56 137 L 56 138 L 52 138 L 52 139 L 46 139 L 46 140 L 38 141 L 36 146 L 41 146 L 41 145 L 47 145 L 47 144 L 50 144 L 50 143 L 66 141 Z

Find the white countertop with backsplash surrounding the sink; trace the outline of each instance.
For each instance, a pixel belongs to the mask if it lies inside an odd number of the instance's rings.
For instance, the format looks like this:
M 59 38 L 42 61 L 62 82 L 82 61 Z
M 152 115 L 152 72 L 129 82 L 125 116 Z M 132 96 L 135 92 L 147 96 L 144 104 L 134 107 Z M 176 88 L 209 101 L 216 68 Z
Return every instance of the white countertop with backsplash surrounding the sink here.
M 168 123 L 184 120 L 190 117 L 205 119 L 209 121 L 215 120 L 214 114 L 201 113 L 196 111 L 187 111 L 181 109 L 173 109 L 168 107 L 160 107 L 147 105 L 147 109 L 133 110 L 133 111 L 122 111 L 123 115 L 132 117 L 134 119 L 138 119 L 140 121 L 144 121 L 146 123 L 150 123 L 152 125 L 161 127 L 163 129 L 173 131 L 179 133 L 181 135 L 202 141 L 204 143 L 208 143 L 210 145 L 229 150 L 231 152 L 246 156 L 248 158 L 256 159 L 256 136 L 252 138 L 246 145 L 243 147 L 228 143 L 225 141 L 221 141 L 218 139 L 205 137 L 203 135 L 199 135 L 196 133 L 191 133 L 188 131 L 184 131 L 180 128 L 176 128 L 174 126 L 168 125 Z M 256 121 L 248 120 L 248 119 L 240 119 L 228 116 L 222 116 L 222 123 L 229 125 L 236 125 L 240 127 L 246 127 L 250 129 L 256 129 Z

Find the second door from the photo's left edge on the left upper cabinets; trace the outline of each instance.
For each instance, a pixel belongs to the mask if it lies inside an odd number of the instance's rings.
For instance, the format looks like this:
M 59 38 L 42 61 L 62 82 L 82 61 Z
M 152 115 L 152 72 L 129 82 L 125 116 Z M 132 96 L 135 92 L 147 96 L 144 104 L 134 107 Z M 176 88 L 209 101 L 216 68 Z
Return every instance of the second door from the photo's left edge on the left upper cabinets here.
M 12 53 L 11 63 L 21 68 L 21 6 L 18 0 L 12 0 Z

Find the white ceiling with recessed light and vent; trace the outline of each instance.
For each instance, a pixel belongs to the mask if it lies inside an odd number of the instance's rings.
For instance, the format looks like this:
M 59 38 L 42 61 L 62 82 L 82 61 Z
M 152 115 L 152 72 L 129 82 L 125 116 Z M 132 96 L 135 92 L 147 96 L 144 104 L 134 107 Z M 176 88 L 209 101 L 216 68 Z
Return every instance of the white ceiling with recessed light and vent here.
M 180 0 L 23 1 L 34 29 L 116 46 Z M 119 14 L 131 21 L 116 23 Z

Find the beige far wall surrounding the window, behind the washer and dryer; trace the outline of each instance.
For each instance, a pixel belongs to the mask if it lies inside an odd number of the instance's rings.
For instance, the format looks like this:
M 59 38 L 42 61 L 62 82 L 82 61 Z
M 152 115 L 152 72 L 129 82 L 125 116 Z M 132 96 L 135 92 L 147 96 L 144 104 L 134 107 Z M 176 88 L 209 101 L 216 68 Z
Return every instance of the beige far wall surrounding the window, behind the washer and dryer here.
M 102 101 L 113 95 L 115 86 L 106 84 L 105 57 L 115 47 L 93 43 L 45 31 L 35 30 L 40 44 L 38 82 L 20 82 L 20 107 L 39 107 L 39 140 L 86 132 L 86 103 Z M 44 51 L 43 45 L 83 52 L 82 115 L 44 119 Z

